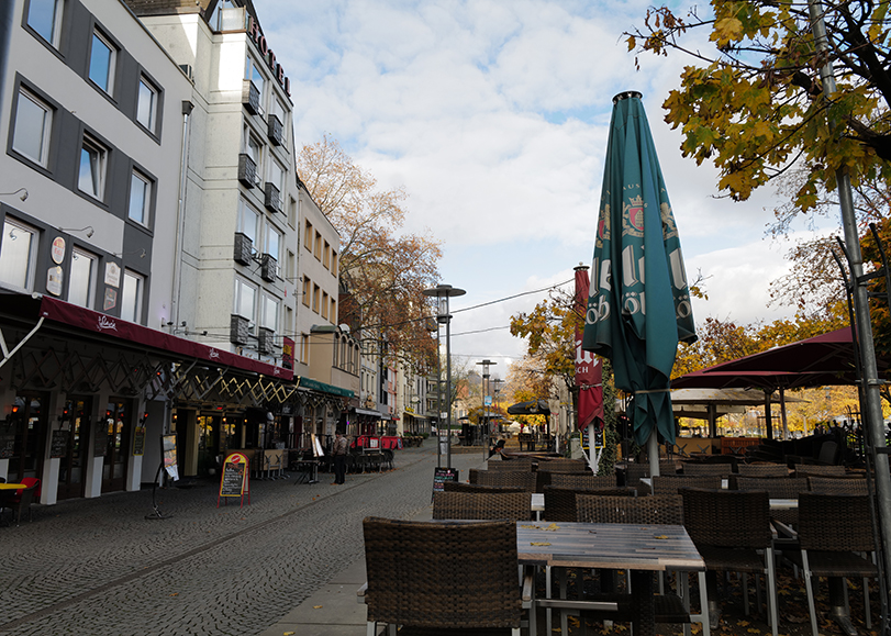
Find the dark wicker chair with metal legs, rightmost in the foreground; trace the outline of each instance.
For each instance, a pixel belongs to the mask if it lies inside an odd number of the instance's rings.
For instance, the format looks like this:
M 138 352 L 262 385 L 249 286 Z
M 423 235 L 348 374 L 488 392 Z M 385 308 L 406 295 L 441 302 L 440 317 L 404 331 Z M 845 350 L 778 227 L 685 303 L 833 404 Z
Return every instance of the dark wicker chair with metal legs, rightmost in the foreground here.
M 869 612 L 868 578 L 878 577 L 878 568 L 868 558 L 856 553 L 876 549 L 869 498 L 850 494 L 802 492 L 799 498 L 798 538 L 801 545 L 801 565 L 808 589 L 811 629 L 818 636 L 816 607 L 811 577 L 864 577 L 864 606 L 866 626 L 872 621 Z M 792 559 L 797 561 L 797 559 Z M 832 583 L 831 583 L 832 585 Z M 844 588 L 843 588 L 844 590 Z M 847 603 L 847 594 L 836 588 L 831 596 Z M 838 599 L 843 596 L 843 599 Z

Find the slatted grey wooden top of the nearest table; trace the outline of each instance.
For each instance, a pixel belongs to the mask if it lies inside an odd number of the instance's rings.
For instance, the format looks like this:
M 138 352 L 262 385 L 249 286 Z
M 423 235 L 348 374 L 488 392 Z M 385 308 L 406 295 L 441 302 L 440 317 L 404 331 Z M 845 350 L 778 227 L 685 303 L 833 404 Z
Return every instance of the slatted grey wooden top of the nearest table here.
M 704 571 L 680 525 L 517 522 L 520 564 L 565 568 Z

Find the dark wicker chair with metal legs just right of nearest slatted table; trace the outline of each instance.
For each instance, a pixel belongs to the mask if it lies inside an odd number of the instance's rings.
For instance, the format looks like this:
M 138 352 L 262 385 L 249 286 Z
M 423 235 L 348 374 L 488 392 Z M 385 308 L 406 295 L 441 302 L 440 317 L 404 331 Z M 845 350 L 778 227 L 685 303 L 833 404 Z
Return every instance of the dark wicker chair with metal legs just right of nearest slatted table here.
M 743 572 L 743 603 L 749 613 L 747 574 L 766 574 L 773 636 L 779 627 L 770 498 L 764 490 L 681 490 L 683 525 L 705 560 L 709 613 L 715 627 L 717 572 Z M 759 550 L 761 554 L 759 554 Z

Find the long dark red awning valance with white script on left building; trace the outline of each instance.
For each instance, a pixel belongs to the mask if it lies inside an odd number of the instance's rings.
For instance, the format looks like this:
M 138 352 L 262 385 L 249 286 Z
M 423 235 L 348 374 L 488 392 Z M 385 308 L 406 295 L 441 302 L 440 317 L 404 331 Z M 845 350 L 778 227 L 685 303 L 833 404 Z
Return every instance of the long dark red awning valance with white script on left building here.
M 136 323 L 105 315 L 76 304 L 44 295 L 41 299 L 40 315 L 92 333 L 121 338 L 156 349 L 172 352 L 183 358 L 198 358 L 218 367 L 234 367 L 244 371 L 261 373 L 281 380 L 293 380 L 293 371 L 260 360 L 233 354 L 216 347 L 209 347 L 194 341 L 180 338 Z

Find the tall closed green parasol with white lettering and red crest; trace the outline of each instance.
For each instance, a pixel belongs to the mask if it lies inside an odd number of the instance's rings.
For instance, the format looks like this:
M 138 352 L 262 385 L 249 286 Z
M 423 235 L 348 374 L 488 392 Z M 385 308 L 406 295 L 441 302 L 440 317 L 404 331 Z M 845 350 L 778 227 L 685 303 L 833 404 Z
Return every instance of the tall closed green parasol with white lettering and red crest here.
M 654 429 L 673 443 L 669 377 L 678 342 L 697 335 L 678 228 L 638 92 L 613 98 L 584 322 L 582 348 L 610 358 L 615 386 L 634 395 L 637 443 L 644 446 Z

